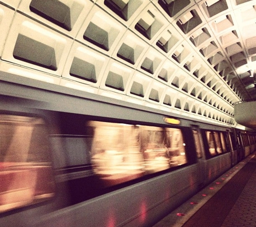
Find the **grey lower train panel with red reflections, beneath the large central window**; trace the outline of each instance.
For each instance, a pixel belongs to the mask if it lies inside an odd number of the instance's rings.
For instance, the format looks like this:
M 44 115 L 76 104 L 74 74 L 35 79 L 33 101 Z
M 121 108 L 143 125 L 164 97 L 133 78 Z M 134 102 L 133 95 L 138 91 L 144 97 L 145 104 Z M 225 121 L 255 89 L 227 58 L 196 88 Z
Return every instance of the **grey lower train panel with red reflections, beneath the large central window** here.
M 41 217 L 37 226 L 150 226 L 198 190 L 197 164 Z

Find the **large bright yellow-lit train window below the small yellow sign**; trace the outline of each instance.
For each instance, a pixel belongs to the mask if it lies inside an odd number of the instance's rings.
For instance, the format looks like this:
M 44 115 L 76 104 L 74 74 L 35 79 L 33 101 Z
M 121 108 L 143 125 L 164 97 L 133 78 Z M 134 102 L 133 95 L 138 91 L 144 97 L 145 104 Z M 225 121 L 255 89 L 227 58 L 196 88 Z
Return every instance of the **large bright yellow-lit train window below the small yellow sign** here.
M 93 171 L 105 186 L 186 164 L 180 129 L 89 122 Z

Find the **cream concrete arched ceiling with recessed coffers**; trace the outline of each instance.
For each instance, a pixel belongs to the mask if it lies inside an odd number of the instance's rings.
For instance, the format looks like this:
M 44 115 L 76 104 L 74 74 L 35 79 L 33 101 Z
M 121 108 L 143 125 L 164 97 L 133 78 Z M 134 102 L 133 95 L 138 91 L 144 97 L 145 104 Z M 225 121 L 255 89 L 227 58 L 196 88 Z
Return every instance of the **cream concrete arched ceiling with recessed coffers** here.
M 0 29 L 24 80 L 228 125 L 256 98 L 255 0 L 4 0 Z

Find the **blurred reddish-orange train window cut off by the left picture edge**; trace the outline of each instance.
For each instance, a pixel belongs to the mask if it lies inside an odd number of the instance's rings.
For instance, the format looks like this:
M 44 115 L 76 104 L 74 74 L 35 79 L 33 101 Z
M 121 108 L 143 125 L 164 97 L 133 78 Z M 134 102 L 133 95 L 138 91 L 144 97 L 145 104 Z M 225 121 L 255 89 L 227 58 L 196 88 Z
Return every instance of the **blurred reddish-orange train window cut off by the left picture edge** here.
M 43 119 L 0 115 L 0 212 L 54 195 L 49 151 Z

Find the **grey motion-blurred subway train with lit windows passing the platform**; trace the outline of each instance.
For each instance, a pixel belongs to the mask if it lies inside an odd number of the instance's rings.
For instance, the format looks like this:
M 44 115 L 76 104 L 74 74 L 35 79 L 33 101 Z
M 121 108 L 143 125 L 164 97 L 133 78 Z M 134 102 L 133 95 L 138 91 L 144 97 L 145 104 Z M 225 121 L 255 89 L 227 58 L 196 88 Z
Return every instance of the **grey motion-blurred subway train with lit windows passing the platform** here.
M 250 131 L 3 81 L 0 226 L 151 226 L 255 143 Z

